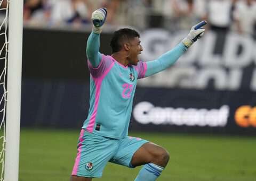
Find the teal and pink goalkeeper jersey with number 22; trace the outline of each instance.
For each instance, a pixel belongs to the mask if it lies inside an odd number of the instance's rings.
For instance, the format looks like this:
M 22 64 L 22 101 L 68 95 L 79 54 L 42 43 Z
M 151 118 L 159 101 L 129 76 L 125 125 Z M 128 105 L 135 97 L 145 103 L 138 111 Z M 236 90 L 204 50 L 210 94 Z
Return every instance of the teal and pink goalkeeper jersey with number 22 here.
M 145 76 L 147 64 L 124 67 L 102 54 L 97 68 L 88 61 L 91 73 L 90 109 L 83 128 L 91 133 L 119 139 L 128 134 L 137 79 Z

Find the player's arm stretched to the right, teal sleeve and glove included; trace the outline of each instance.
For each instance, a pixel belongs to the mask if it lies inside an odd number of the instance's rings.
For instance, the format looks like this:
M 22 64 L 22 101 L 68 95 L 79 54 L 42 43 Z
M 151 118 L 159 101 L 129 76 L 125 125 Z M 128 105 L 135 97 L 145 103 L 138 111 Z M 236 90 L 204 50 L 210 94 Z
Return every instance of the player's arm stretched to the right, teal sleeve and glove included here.
M 183 39 L 179 45 L 163 54 L 155 61 L 147 62 L 147 71 L 145 73 L 145 77 L 161 72 L 174 64 L 180 58 L 180 56 L 185 53 L 187 48 L 189 48 L 197 39 L 200 39 L 203 36 L 203 25 L 205 24 L 206 21 L 198 23 L 191 28 L 188 36 Z

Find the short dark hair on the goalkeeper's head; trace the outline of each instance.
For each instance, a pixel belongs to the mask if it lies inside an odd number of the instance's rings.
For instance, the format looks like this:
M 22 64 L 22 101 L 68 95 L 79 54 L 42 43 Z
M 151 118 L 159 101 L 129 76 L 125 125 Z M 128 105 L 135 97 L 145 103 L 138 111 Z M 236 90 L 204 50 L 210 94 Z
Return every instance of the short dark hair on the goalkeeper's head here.
M 120 51 L 125 41 L 130 41 L 135 37 L 140 38 L 140 34 L 137 31 L 130 28 L 122 28 L 115 31 L 110 40 L 112 53 Z

